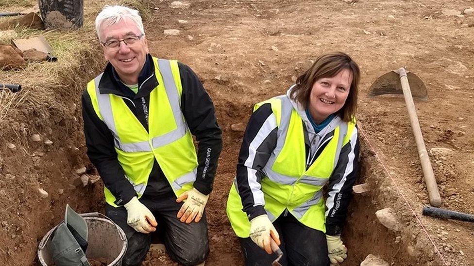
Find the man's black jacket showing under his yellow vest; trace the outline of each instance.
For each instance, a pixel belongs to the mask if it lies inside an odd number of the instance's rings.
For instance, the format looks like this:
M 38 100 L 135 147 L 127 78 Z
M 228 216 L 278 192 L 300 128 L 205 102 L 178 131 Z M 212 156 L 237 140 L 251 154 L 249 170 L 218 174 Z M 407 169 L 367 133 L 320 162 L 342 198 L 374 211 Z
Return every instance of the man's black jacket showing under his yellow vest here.
M 194 188 L 207 195 L 212 190 L 217 161 L 222 150 L 222 132 L 217 124 L 214 105 L 199 78 L 187 65 L 178 63 L 178 66 L 183 87 L 181 110 L 191 133 L 199 142 L 198 178 L 194 182 Z M 115 94 L 124 98 L 126 105 L 147 131 L 150 92 L 158 85 L 154 76 L 149 78 L 154 74 L 154 71 L 152 56 L 148 54 L 138 78 L 140 89 L 137 94 L 120 81 L 117 72 L 110 63 L 105 67 L 99 83 L 101 94 Z M 97 168 L 105 187 L 117 199 L 115 203 L 117 205 L 128 203 L 136 195 L 135 190 L 125 178 L 119 164 L 112 133 L 94 111 L 87 90 L 82 95 L 82 106 L 87 156 Z M 172 191 L 172 188 L 166 180 L 159 162 L 155 160 L 144 195 L 159 197 L 169 191 Z

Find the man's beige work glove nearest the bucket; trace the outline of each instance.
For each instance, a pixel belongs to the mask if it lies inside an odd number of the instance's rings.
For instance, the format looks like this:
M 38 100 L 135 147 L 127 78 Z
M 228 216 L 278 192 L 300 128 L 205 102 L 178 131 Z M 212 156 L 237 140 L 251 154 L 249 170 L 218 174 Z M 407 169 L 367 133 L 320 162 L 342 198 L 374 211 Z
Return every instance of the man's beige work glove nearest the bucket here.
M 156 231 L 156 219 L 152 212 L 138 199 L 133 197 L 127 204 L 123 205 L 127 209 L 127 223 L 136 232 L 148 234 Z

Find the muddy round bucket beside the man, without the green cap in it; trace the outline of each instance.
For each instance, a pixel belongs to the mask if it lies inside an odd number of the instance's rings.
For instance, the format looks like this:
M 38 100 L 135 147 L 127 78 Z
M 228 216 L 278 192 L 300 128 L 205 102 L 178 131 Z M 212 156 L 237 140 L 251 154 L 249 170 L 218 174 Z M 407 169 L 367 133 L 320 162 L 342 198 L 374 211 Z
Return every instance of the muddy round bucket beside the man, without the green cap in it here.
M 128 241 L 123 230 L 105 215 L 93 212 L 80 214 L 89 229 L 85 253 L 88 259 L 106 259 L 112 261 L 108 266 L 121 266 L 122 258 L 127 251 Z M 57 225 L 52 228 L 39 242 L 38 261 L 42 266 L 53 264 L 49 246 L 51 234 Z

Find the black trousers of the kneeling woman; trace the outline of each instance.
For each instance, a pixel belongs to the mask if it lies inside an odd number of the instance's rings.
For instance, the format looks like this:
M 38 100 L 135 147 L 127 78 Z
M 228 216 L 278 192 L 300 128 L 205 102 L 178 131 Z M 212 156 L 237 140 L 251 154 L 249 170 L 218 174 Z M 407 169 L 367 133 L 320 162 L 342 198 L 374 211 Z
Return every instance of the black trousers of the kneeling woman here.
M 280 235 L 283 266 L 329 266 L 326 235 L 300 223 L 290 213 L 282 214 L 273 222 Z M 250 237 L 239 238 L 246 266 L 268 266 L 277 258 L 275 254 L 258 247 Z

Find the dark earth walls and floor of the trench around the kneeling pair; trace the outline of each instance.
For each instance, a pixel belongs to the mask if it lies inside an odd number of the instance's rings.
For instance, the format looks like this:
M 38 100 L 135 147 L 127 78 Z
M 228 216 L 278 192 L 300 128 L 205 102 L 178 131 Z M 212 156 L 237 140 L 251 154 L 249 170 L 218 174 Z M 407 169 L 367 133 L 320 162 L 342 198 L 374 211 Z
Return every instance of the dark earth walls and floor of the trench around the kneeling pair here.
M 13 265 L 31 265 L 32 263 L 38 265 L 35 259 L 37 244 L 52 226 L 63 219 L 66 203 L 78 212 L 100 211 L 103 213 L 102 182 L 85 187 L 73 183 L 78 177 L 75 171 L 79 168 L 86 167 L 87 174 L 97 175 L 85 155 L 81 108 L 78 107 L 81 88 L 86 79 L 92 78 L 92 73 L 97 69 L 100 69 L 100 66 L 81 70 L 90 73 L 91 77 L 84 77 L 76 84 L 69 84 L 70 87 L 76 89 L 72 90 L 72 93 L 59 95 L 64 99 L 68 112 L 60 113 L 58 110 L 51 109 L 47 110 L 49 113 L 46 115 L 42 114 L 44 117 L 28 115 L 43 139 L 53 140 L 52 147 L 41 143 L 28 144 L 26 147 L 32 151 L 30 156 L 33 159 L 29 163 L 27 161 L 26 167 L 25 155 L 21 149 L 3 150 L 5 157 L 12 158 L 8 166 L 3 164 L 5 172 L 18 171 L 22 172 L 23 176 L 35 172 L 39 176 L 46 177 L 39 184 L 30 182 L 29 185 L 34 189 L 38 186 L 45 188 L 49 192 L 49 197 L 42 199 L 35 193 L 28 193 L 25 198 L 17 201 L 20 205 L 23 203 L 19 207 L 19 216 L 25 217 L 25 220 L 30 222 L 18 225 L 17 228 L 21 229 L 21 234 L 17 235 L 20 237 L 2 235 L 12 239 L 3 241 L 7 248 L 2 248 L 5 252 L 1 261 L 14 262 Z M 214 89 L 212 85 L 208 86 L 211 95 Z M 219 123 L 223 129 L 224 148 L 220 157 L 214 191 L 207 206 L 211 245 L 207 265 L 243 265 L 237 238 L 225 215 L 225 202 L 235 175 L 237 154 L 243 134 L 242 130 L 236 130 L 233 125 L 246 123 L 249 111 L 241 107 L 250 105 L 239 103 L 237 94 L 231 95 L 232 101 L 228 100 L 229 95 L 225 95 L 225 98 L 219 95 L 213 96 Z M 45 117 L 54 119 L 44 120 Z M 33 132 L 32 128 L 25 132 L 30 134 Z M 23 139 L 27 138 L 26 133 L 23 134 Z M 344 265 L 359 265 L 370 253 L 380 256 L 392 265 L 438 265 L 433 251 L 427 246 L 425 236 L 418 235 L 419 230 L 416 229 L 410 215 L 406 214 L 401 207 L 403 204 L 398 201 L 396 193 L 381 191 L 379 187 L 381 184 L 387 187 L 386 177 L 363 138 L 361 142 L 360 174 L 356 184 L 367 183 L 370 189 L 365 193 L 355 194 L 351 202 L 348 223 L 343 234 L 343 240 L 349 249 L 349 257 Z M 15 182 L 21 182 L 21 180 L 26 180 L 26 178 L 20 177 Z M 400 222 L 403 225 L 401 232 L 388 230 L 375 217 L 377 210 L 388 206 L 394 207 L 397 213 L 402 214 L 400 215 Z M 174 265 L 174 263 L 163 252 L 151 251 L 144 265 Z

